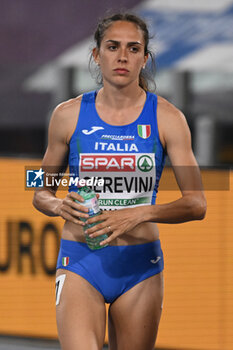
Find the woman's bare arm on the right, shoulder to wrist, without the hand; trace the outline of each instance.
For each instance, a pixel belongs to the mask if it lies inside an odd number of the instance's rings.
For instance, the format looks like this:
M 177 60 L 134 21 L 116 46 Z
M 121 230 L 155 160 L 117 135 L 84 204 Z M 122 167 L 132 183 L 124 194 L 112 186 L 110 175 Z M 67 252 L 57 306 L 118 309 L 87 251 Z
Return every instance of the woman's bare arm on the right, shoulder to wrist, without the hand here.
M 201 174 L 191 147 L 191 135 L 184 115 L 162 102 L 162 142 L 167 149 L 181 198 L 176 201 L 149 206 L 145 209 L 145 221 L 182 223 L 202 220 L 206 213 L 206 199 Z

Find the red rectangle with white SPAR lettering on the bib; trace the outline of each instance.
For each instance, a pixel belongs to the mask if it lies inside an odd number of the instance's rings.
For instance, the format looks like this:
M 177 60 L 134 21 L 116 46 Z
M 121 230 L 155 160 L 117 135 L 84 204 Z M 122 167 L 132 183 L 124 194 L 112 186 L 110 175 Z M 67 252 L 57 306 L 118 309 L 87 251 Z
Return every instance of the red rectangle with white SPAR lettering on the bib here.
M 135 171 L 135 155 L 81 154 L 81 171 Z

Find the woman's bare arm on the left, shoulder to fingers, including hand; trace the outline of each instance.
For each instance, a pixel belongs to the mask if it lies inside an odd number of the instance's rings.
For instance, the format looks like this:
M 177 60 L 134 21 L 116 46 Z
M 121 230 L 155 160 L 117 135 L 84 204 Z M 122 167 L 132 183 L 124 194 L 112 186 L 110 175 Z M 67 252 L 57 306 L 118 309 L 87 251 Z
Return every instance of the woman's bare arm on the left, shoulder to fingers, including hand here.
M 81 98 L 60 104 L 55 108 L 48 132 L 48 147 L 42 161 L 46 173 L 64 173 L 68 164 L 69 140 L 77 123 Z M 59 179 L 59 177 L 57 177 Z M 83 198 L 75 192 L 70 192 L 64 199 L 56 197 L 57 186 L 42 188 L 35 191 L 34 207 L 48 216 L 61 216 L 65 220 L 83 225 L 79 217 L 88 215 L 88 210 L 76 203 L 74 199 L 83 202 Z M 80 212 L 81 211 L 81 212 Z

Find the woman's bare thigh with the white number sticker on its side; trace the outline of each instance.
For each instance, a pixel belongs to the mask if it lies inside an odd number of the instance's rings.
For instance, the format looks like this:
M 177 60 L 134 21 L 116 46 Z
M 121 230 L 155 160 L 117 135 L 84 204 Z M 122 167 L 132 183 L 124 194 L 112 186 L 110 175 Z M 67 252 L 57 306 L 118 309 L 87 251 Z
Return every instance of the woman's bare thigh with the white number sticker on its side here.
M 62 349 L 102 349 L 106 325 L 103 296 L 83 277 L 71 271 L 59 269 L 58 276 L 61 283 L 56 289 L 57 298 L 60 297 L 56 318 Z

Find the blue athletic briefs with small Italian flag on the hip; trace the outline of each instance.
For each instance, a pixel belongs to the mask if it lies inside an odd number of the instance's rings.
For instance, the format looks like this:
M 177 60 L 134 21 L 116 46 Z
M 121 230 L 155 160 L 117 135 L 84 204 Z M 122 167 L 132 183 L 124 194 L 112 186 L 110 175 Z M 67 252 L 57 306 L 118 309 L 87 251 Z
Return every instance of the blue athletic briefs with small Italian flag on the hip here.
M 62 258 L 69 258 L 67 266 L 63 266 Z M 163 252 L 160 240 L 93 251 L 86 243 L 62 239 L 57 260 L 60 268 L 82 276 L 106 303 L 113 303 L 137 283 L 163 270 Z

